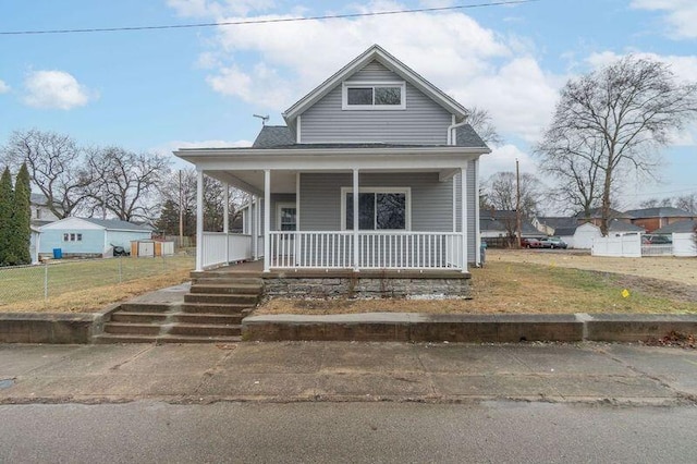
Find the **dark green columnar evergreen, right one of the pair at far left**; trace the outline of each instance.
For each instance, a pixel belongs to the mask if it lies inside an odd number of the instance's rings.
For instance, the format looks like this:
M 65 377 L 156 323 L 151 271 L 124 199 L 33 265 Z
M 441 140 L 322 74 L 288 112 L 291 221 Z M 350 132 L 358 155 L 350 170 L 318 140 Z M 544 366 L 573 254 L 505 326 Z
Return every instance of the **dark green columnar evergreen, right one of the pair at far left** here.
M 29 171 L 26 169 L 26 164 L 22 164 L 14 183 L 10 249 L 13 252 L 15 261 L 10 262 L 11 265 L 32 264 L 32 254 L 29 253 L 29 241 L 32 234 L 30 188 Z

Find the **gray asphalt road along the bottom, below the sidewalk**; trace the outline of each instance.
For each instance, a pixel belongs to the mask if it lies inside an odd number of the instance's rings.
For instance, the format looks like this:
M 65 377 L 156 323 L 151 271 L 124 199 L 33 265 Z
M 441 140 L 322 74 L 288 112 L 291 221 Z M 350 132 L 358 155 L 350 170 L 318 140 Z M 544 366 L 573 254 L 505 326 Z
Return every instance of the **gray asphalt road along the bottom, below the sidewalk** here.
M 0 462 L 695 462 L 697 407 L 484 402 L 0 406 Z

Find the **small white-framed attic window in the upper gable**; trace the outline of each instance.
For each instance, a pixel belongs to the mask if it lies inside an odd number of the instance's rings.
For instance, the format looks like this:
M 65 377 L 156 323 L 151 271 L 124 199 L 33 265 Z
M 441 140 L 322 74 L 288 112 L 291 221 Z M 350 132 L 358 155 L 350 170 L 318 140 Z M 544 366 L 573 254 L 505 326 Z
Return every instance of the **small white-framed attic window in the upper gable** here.
M 404 82 L 345 82 L 342 109 L 344 110 L 403 110 L 406 109 Z

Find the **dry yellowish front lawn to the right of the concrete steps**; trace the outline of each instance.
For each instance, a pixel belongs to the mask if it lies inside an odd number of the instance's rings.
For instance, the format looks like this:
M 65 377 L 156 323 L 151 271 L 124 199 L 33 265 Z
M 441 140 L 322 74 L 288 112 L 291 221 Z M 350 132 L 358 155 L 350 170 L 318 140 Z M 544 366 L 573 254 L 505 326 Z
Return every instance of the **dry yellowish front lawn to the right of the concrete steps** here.
M 486 267 L 472 269 L 472 300 L 278 298 L 255 314 L 697 313 L 697 259 L 692 258 L 634 260 L 557 251 L 490 251 Z

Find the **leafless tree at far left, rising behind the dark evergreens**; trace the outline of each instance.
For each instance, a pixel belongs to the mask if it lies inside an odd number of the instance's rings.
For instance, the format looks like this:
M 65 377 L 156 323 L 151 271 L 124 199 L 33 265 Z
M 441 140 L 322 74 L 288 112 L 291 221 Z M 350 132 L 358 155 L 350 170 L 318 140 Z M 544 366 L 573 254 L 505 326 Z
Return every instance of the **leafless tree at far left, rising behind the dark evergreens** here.
M 1 149 L 11 167 L 26 163 L 32 183 L 46 196 L 46 207 L 62 219 L 86 205 L 91 178 L 83 169 L 83 149 L 68 135 L 38 130 L 15 131 Z

